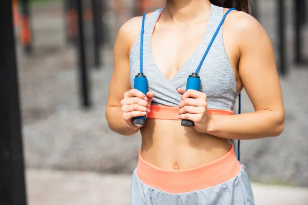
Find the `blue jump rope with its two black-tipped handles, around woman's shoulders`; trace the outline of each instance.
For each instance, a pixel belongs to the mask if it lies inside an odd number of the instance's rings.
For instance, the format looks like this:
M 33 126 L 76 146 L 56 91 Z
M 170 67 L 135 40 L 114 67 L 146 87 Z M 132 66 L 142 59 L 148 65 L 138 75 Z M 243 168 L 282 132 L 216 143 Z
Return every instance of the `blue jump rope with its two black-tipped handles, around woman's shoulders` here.
M 235 8 L 231 8 L 229 9 L 223 16 L 216 32 L 214 33 L 212 39 L 210 40 L 210 43 L 200 61 L 200 64 L 198 65 L 196 71 L 194 73 L 191 73 L 191 75 L 188 76 L 187 78 L 187 84 L 186 84 L 186 91 L 191 89 L 191 90 L 200 90 L 200 76 L 198 75 L 199 73 L 199 70 L 202 66 L 202 63 L 210 49 L 210 47 L 213 45 L 213 42 L 226 18 L 226 16 L 228 15 L 228 13 L 230 11 L 233 11 L 233 10 L 236 10 Z M 143 35 L 144 35 L 144 22 L 145 22 L 145 13 L 143 14 L 143 17 L 142 17 L 142 27 L 141 27 L 141 42 L 140 42 L 140 72 L 138 73 L 138 75 L 135 76 L 134 78 L 134 84 L 133 84 L 133 87 L 139 91 L 141 91 L 143 94 L 146 94 L 147 92 L 147 84 L 148 84 L 148 81 L 147 81 L 147 78 L 146 76 L 143 74 Z M 239 114 L 241 112 L 241 95 L 239 95 Z M 145 119 L 146 119 L 146 116 L 140 116 L 140 117 L 134 117 L 132 118 L 132 124 L 134 126 L 137 126 L 137 127 L 143 127 L 145 125 Z M 194 127 L 195 124 L 193 121 L 191 120 L 187 120 L 187 119 L 182 119 L 182 122 L 181 122 L 181 125 L 184 126 L 184 127 Z M 238 140 L 238 160 L 240 160 L 240 140 Z

